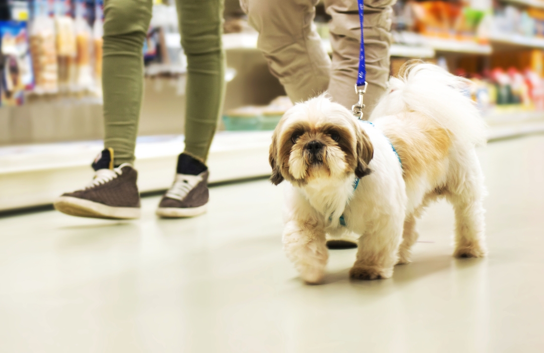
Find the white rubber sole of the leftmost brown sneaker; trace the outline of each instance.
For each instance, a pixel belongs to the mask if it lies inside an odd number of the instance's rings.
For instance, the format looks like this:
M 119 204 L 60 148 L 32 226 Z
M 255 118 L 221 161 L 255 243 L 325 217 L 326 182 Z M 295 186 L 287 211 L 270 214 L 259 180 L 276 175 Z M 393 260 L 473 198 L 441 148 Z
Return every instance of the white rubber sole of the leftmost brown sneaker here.
M 60 212 L 77 217 L 113 220 L 133 220 L 140 217 L 139 207 L 114 207 L 71 196 L 57 198 L 53 206 Z

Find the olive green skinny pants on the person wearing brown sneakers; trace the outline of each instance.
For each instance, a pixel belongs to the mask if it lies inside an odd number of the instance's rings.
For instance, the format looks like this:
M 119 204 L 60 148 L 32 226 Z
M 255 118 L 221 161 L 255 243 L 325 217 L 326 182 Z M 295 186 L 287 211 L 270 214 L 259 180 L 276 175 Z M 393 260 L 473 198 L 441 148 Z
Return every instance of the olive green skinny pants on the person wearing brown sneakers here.
M 176 0 L 181 44 L 187 55 L 185 151 L 206 161 L 225 87 L 221 47 L 224 0 Z M 144 86 L 143 45 L 152 0 L 106 0 L 102 88 L 104 148 L 114 163 L 132 163 Z

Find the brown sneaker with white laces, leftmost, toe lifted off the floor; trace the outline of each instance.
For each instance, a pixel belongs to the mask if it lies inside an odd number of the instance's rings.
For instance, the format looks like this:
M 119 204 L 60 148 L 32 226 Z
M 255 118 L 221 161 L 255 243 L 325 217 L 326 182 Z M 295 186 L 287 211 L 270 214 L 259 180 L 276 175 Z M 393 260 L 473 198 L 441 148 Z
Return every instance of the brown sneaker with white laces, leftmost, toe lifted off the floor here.
M 53 203 L 71 216 L 131 219 L 140 217 L 138 172 L 128 163 L 113 167 L 113 149 L 101 152 L 92 163 L 95 177 L 82 190 L 64 193 Z

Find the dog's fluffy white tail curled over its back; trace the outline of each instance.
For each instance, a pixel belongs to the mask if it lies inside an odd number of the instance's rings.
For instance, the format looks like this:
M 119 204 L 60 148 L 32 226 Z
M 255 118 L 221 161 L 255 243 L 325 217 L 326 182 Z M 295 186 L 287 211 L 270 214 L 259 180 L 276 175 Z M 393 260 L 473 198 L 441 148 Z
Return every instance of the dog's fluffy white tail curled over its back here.
M 442 68 L 422 62 L 405 64 L 390 80 L 388 93 L 374 109 L 370 120 L 416 111 L 436 121 L 462 144 L 485 144 L 486 125 L 468 98 L 469 81 Z

